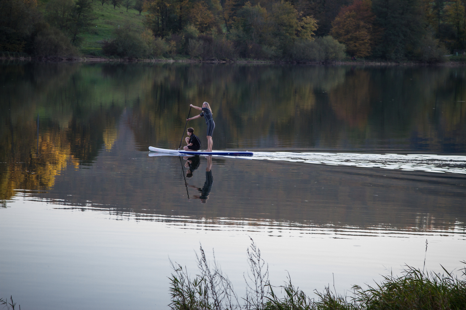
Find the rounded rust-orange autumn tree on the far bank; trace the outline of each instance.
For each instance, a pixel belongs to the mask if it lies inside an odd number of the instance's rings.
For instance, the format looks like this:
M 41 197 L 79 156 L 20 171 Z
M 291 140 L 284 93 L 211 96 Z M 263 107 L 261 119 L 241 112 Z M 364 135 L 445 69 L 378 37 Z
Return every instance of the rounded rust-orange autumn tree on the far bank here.
M 342 7 L 332 22 L 330 34 L 346 45 L 351 56 L 366 57 L 371 54 L 373 42 L 373 22 L 371 0 L 356 0 L 349 7 Z

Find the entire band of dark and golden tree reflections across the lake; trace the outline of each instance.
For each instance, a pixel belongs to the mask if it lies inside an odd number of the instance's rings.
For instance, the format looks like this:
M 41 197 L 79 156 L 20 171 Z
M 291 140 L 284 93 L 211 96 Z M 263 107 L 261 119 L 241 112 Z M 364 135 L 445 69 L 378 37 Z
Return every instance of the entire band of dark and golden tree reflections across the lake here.
M 144 150 L 144 145 L 178 146 L 189 104 L 208 101 L 217 148 L 274 147 L 274 142 L 339 148 L 367 139 L 387 147 L 386 139 L 398 139 L 411 149 L 464 152 L 466 73 L 459 68 L 183 63 L 0 68 L 0 162 L 7 163 L 0 164 L 2 199 L 12 197 L 14 188 L 52 186 L 67 162 L 90 164 L 103 148 L 111 149 L 125 107 L 125 120 Z M 202 120 L 190 125 L 205 139 Z

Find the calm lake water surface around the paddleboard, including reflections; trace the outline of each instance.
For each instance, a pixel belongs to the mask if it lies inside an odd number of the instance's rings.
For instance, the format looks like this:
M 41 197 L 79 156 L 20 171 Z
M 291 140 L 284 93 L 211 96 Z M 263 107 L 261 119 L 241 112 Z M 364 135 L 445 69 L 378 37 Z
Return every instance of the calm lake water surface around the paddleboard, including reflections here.
M 241 296 L 250 237 L 311 296 L 464 267 L 464 67 L 2 63 L 0 89 L 0 297 L 23 309 L 167 309 L 199 244 Z M 148 152 L 203 101 L 213 148 L 253 157 Z

